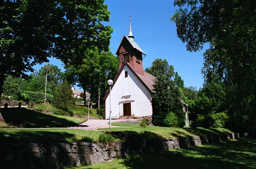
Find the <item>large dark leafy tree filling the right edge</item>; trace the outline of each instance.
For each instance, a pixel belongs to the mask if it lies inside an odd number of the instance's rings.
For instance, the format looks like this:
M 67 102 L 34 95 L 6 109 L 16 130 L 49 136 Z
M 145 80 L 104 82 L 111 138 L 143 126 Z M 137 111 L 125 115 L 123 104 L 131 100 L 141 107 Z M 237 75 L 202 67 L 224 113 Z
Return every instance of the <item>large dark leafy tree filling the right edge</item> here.
M 256 1 L 175 0 L 171 20 L 188 51 L 204 53 L 205 76 L 224 82 L 232 126 L 256 131 Z

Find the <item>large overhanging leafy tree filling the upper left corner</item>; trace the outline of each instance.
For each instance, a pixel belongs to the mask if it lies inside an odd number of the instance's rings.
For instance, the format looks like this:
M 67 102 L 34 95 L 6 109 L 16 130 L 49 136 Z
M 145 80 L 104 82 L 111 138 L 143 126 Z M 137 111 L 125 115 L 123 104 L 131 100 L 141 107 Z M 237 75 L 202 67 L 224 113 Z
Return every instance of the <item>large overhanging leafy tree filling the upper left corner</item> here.
M 7 75 L 24 77 L 47 57 L 78 64 L 88 47 L 108 49 L 113 29 L 101 23 L 110 15 L 104 0 L 5 0 L 0 6 L 0 95 Z

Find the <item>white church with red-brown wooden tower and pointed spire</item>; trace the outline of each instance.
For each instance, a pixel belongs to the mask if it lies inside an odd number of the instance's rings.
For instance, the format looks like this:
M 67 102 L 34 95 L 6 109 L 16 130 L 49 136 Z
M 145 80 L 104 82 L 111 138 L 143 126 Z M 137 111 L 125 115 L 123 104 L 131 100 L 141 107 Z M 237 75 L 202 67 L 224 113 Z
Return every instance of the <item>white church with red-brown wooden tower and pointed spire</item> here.
M 125 118 L 130 116 L 152 116 L 151 93 L 153 90 L 153 75 L 143 69 L 145 52 L 134 41 L 132 27 L 128 36 L 123 36 L 116 55 L 120 58 L 119 71 L 111 85 L 111 105 L 109 90 L 105 94 L 105 119 Z

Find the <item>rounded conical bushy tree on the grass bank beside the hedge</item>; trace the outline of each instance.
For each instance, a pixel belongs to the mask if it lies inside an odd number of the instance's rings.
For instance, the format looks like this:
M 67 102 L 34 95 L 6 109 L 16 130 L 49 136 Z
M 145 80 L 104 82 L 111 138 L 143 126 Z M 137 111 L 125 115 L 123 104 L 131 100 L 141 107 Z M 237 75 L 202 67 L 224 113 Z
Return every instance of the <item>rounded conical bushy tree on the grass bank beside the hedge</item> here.
M 75 105 L 75 98 L 67 80 L 61 82 L 58 89 L 54 91 L 53 105 L 64 111 Z

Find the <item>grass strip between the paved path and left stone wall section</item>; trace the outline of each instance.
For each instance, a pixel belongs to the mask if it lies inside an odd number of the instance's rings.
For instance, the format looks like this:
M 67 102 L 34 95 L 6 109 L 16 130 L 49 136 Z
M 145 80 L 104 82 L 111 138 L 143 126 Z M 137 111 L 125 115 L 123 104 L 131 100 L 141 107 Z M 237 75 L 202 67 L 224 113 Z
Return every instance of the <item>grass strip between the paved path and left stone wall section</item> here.
M 0 129 L 0 143 L 73 143 L 119 141 L 110 134 L 82 129 Z

